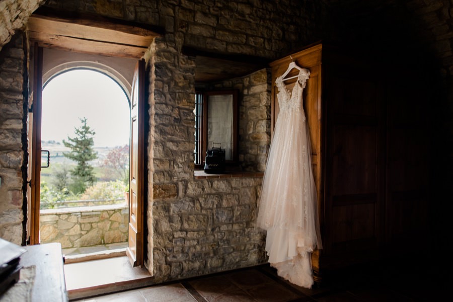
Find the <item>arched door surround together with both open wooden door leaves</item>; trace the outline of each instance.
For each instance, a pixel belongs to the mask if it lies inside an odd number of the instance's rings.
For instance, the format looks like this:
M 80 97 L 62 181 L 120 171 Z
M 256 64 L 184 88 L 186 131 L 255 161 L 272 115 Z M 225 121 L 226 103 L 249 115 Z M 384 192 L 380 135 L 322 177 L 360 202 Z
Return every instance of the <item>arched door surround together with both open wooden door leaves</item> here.
M 107 57 L 96 54 L 74 53 L 71 51 L 57 50 L 51 48 L 41 48 L 37 44 L 32 51 L 31 72 L 33 77 L 30 78 L 30 87 L 33 91 L 29 102 L 29 129 L 28 136 L 31 144 L 29 149 L 29 200 L 30 207 L 28 211 L 30 223 L 27 226 L 30 234 L 30 243 L 37 244 L 40 242 L 39 230 L 39 212 L 40 212 L 40 170 L 39 165 L 42 161 L 41 153 L 41 116 L 42 116 L 42 83 L 48 82 L 55 75 L 74 68 L 88 68 L 101 71 L 117 82 L 124 92 L 130 93 L 130 129 L 131 135 L 130 150 L 131 169 L 129 183 L 130 200 L 129 202 L 129 225 L 128 225 L 128 247 L 126 254 L 132 265 L 143 265 L 143 150 L 144 146 L 144 129 L 143 122 L 139 122 L 139 115 L 143 111 L 138 111 L 138 104 L 144 104 L 144 60 L 137 62 L 134 58 L 124 57 Z M 138 76 L 140 74 L 140 76 Z M 128 79 L 128 80 L 127 80 Z M 139 80 L 141 79 L 141 80 Z M 124 93 L 122 93 L 124 94 Z M 138 97 L 140 96 L 140 97 Z M 138 114 L 138 115 L 137 115 Z M 142 117 L 144 118 L 144 116 Z M 138 126 L 138 127 L 137 127 Z M 135 130 L 134 130 L 135 129 Z M 137 136 L 138 135 L 138 136 Z M 135 142 L 132 140 L 136 140 Z M 137 144 L 138 142 L 138 144 Z M 138 152 L 138 153 L 137 153 Z M 132 157 L 132 155 L 134 155 Z M 132 158 L 138 159 L 133 161 Z M 137 170 L 138 169 L 138 170 Z M 137 173 L 134 173 L 137 172 Z M 138 181 L 138 182 L 137 182 Z M 139 184 L 140 192 L 134 191 Z M 132 192 L 133 191 L 133 192 Z M 133 194 L 132 194 L 133 193 Z M 54 217 L 55 218 L 55 217 Z M 81 225 L 82 229 L 82 225 Z M 78 230 L 75 230 L 76 232 Z M 85 230 L 86 231 L 86 230 Z M 137 256 L 138 255 L 138 256 Z M 111 255 L 109 255 L 111 256 Z

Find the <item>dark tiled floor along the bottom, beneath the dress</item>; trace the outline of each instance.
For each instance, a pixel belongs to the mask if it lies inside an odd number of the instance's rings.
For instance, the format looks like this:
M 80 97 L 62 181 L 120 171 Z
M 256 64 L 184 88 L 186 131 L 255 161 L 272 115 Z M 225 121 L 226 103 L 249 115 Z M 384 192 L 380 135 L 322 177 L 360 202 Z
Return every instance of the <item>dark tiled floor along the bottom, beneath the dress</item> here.
M 322 287 L 307 289 L 276 276 L 268 265 L 154 285 L 84 299 L 103 302 L 342 302 L 342 301 L 445 301 L 451 293 L 436 272 L 421 271 L 421 263 L 395 267 L 378 263 L 337 271 Z M 434 274 L 434 275 L 433 275 Z M 444 284 L 444 285 L 442 285 Z M 451 283 L 449 283 L 451 284 Z M 448 298 L 449 297 L 449 298 Z

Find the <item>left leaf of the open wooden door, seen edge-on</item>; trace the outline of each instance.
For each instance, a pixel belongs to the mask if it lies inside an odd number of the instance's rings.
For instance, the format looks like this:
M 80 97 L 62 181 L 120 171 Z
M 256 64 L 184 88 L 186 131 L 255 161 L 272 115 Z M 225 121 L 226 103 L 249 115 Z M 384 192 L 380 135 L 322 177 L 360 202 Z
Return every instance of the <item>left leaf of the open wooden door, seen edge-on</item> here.
M 35 43 L 33 64 L 33 105 L 29 114 L 31 148 L 29 153 L 29 185 L 31 187 L 30 244 L 39 244 L 39 203 L 41 184 L 41 108 L 42 108 L 42 48 Z

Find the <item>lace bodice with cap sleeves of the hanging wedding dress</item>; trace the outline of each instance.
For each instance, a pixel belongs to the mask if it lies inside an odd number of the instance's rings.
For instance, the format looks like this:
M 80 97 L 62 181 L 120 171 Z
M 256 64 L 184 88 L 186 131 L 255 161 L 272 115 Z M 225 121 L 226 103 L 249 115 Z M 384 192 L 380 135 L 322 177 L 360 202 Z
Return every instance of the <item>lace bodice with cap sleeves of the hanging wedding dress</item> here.
M 278 105 L 280 106 L 280 111 L 287 110 L 297 110 L 300 108 L 302 101 L 302 92 L 307 84 L 307 79 L 310 77 L 310 71 L 308 69 L 302 68 L 299 71 L 297 76 L 297 82 L 290 92 L 285 84 L 283 83 L 282 77 L 278 77 L 275 80 L 275 84 L 278 88 Z

